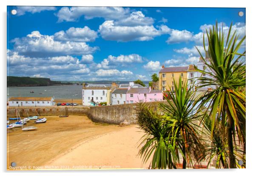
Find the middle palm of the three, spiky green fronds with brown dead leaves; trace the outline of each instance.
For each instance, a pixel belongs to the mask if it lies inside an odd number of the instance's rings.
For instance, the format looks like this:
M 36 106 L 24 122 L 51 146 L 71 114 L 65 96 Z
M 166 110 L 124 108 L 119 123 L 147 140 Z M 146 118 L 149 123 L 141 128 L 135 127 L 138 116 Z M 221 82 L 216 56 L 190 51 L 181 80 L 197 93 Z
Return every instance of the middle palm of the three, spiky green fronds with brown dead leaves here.
M 187 81 L 182 85 L 181 77 L 179 82 L 174 81 L 174 91 L 168 92 L 167 104 L 160 103 L 159 107 L 164 113 L 167 126 L 171 130 L 172 138 L 170 143 L 176 151 L 182 154 L 182 168 L 187 164 L 193 164 L 191 151 L 201 148 L 202 143 L 199 137 L 199 120 L 202 117 L 199 113 L 194 113 L 196 108 L 196 92 L 192 90 L 193 86 L 187 88 Z M 170 89 L 171 90 L 171 89 Z M 179 158 L 178 158 L 179 159 Z

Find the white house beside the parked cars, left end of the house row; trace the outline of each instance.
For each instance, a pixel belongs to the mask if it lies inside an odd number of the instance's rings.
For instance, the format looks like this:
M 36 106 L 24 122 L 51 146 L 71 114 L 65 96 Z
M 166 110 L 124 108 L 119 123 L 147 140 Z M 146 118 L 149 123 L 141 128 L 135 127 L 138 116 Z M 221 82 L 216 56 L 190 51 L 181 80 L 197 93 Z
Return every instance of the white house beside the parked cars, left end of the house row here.
M 90 84 L 82 88 L 82 105 L 90 106 L 96 103 L 108 102 L 107 92 L 111 89 L 106 85 Z

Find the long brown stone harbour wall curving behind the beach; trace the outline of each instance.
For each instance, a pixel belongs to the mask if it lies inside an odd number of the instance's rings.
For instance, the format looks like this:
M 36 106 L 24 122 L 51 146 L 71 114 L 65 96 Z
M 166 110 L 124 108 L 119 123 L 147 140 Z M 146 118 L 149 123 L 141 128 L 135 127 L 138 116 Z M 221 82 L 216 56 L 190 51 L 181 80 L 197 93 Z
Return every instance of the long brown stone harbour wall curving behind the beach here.
M 165 101 L 162 101 L 165 102 Z M 148 102 L 152 106 L 157 106 L 159 102 Z M 21 117 L 46 116 L 46 115 L 85 115 L 94 122 L 108 124 L 119 124 L 122 121 L 136 123 L 137 104 L 117 104 L 97 107 L 19 107 L 17 112 Z M 7 117 L 16 117 L 16 108 L 7 107 Z

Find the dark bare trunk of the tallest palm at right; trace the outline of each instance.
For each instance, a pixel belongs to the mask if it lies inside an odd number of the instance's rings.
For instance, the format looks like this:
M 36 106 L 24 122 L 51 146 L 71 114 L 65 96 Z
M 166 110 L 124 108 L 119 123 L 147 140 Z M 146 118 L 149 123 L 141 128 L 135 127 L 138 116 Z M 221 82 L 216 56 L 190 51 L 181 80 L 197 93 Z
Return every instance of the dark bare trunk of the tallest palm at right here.
M 233 131 L 233 118 L 229 112 L 228 105 L 226 105 L 226 112 L 228 115 L 228 128 L 227 128 L 227 138 L 228 138 L 228 151 L 229 151 L 229 165 L 230 168 L 236 168 L 236 157 L 233 152 L 233 136 L 232 136 L 232 131 Z

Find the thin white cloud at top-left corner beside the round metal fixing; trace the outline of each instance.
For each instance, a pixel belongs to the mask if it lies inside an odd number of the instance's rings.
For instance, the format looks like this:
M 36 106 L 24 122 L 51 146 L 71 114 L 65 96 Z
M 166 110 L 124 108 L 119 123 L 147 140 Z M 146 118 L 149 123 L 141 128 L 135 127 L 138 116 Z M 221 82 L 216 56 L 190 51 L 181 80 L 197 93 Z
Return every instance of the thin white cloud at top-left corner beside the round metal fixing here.
M 26 12 L 31 14 L 39 13 L 41 11 L 55 11 L 55 7 L 51 6 L 17 6 L 17 15 L 21 16 L 24 15 Z

